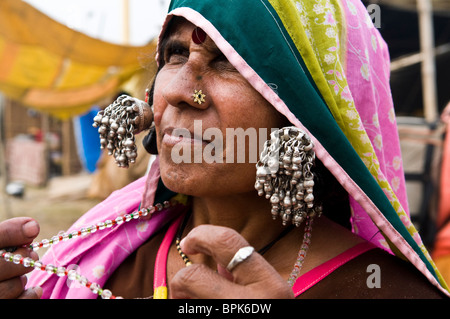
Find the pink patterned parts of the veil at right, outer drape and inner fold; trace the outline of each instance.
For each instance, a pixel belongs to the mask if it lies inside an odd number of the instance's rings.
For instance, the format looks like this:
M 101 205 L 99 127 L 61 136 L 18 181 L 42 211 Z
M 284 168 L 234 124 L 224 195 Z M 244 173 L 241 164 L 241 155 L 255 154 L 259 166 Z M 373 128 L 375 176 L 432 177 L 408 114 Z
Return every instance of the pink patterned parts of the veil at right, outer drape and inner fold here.
M 374 145 L 380 170 L 409 215 L 402 155 L 389 85 L 390 58 L 386 43 L 366 8 L 343 2 L 347 20 L 346 77 L 365 131 Z M 367 212 L 350 198 L 353 231 L 390 251 Z

